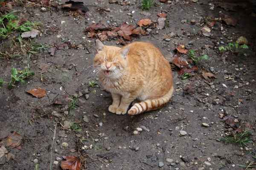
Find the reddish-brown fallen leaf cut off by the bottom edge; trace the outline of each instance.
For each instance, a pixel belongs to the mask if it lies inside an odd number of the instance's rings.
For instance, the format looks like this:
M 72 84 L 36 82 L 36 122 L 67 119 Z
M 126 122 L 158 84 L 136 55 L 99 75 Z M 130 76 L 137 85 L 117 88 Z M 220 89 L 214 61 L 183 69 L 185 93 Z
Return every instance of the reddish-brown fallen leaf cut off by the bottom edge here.
M 61 168 L 63 170 L 80 170 L 81 161 L 76 156 L 62 156 L 66 161 L 61 161 Z

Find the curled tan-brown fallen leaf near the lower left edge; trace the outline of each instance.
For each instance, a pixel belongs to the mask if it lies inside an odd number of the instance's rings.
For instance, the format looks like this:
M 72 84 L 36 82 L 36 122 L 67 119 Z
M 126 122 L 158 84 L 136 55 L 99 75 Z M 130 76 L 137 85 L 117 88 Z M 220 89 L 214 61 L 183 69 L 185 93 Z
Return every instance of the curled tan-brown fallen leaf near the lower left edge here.
M 7 138 L 3 138 L 2 141 L 4 142 L 6 147 L 18 147 L 22 142 L 22 136 L 17 133 L 11 133 Z

